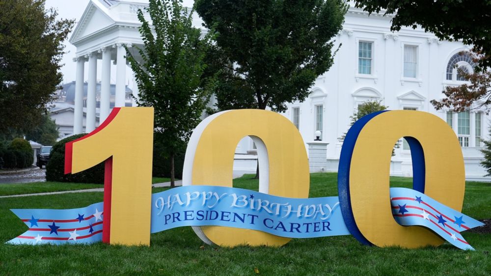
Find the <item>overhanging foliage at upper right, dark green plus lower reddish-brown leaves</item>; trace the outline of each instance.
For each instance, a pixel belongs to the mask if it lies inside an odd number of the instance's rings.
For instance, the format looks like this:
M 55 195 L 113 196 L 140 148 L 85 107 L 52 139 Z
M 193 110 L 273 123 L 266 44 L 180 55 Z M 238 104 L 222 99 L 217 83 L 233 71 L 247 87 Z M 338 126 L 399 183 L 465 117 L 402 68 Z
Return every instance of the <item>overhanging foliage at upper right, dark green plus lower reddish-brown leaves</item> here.
M 447 87 L 443 100 L 432 100 L 436 110 L 443 107 L 457 112 L 474 108 L 486 108 L 491 103 L 491 5 L 489 1 L 445 0 L 355 0 L 355 6 L 370 13 L 384 10 L 394 14 L 391 30 L 402 26 L 416 28 L 421 25 L 441 40 L 462 40 L 473 46 L 477 67 L 472 74 L 460 72 L 470 84 Z

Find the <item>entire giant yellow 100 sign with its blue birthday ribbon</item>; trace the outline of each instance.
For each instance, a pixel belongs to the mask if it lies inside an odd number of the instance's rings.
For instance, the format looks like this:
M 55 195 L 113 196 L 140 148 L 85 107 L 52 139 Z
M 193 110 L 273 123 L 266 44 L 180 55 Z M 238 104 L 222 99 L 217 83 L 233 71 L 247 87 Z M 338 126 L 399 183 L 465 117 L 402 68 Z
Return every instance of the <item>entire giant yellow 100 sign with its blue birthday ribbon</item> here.
M 429 113 L 386 111 L 358 120 L 341 151 L 339 197 L 310 199 L 304 142 L 277 113 L 230 110 L 206 118 L 192 133 L 183 187 L 157 194 L 151 193 L 153 130 L 152 108 L 114 108 L 95 131 L 67 143 L 65 173 L 105 162 L 104 202 L 12 210 L 29 229 L 9 243 L 149 245 L 151 233 L 192 226 L 206 243 L 227 247 L 351 234 L 379 247 L 447 241 L 466 250 L 472 247 L 461 232 L 482 225 L 460 213 L 465 174 L 457 137 Z M 245 136 L 257 146 L 259 192 L 232 187 L 235 149 Z M 400 137 L 411 150 L 412 189 L 389 187 Z

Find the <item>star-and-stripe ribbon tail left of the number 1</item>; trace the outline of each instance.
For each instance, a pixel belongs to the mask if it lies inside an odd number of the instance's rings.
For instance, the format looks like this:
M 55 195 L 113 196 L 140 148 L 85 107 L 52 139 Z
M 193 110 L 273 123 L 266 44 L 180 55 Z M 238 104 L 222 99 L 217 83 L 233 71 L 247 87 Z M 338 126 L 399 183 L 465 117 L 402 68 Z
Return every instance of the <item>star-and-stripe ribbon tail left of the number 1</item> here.
M 104 217 L 102 210 L 102 202 L 69 210 L 12 209 L 28 230 L 8 243 L 35 245 L 100 242 Z

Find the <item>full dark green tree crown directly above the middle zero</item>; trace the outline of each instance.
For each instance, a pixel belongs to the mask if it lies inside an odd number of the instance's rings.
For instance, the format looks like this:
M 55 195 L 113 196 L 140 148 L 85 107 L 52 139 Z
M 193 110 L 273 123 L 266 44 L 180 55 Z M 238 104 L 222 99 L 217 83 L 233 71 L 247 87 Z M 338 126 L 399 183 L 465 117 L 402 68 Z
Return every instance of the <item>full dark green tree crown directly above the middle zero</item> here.
M 217 32 L 210 53 L 219 72 L 219 110 L 271 108 L 303 101 L 333 63 L 342 0 L 196 0 L 204 25 Z

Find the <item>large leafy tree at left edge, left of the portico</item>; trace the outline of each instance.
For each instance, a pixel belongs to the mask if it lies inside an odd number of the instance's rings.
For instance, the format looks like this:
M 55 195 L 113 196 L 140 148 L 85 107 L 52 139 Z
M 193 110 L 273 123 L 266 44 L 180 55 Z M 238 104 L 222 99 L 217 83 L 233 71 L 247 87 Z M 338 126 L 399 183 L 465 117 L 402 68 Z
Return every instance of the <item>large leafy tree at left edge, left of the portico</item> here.
M 62 42 L 73 26 L 45 0 L 0 0 L 0 133 L 41 121 L 62 80 Z

